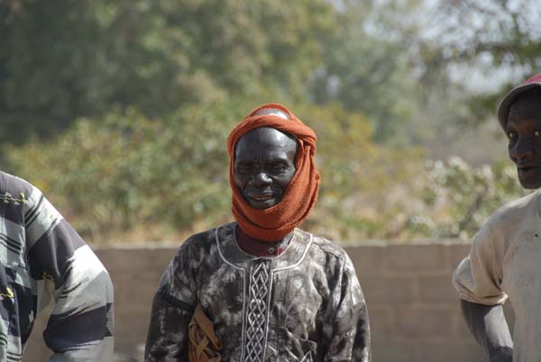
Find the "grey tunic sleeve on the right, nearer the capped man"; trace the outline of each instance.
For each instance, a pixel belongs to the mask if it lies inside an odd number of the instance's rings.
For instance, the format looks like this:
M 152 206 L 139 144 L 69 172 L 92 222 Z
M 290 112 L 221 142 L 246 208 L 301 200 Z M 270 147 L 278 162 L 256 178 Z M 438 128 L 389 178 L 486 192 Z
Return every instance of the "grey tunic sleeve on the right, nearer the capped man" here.
M 345 256 L 341 282 L 335 290 L 335 318 L 327 341 L 325 362 L 371 361 L 368 311 L 353 263 Z

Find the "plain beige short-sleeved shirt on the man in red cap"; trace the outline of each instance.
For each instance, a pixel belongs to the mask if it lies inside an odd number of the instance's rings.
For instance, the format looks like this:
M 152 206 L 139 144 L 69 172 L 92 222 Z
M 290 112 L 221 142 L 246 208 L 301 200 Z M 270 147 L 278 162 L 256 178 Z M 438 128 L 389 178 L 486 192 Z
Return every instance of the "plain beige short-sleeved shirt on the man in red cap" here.
M 453 284 L 468 302 L 509 300 L 515 312 L 515 362 L 541 357 L 541 194 L 504 205 L 476 236 Z

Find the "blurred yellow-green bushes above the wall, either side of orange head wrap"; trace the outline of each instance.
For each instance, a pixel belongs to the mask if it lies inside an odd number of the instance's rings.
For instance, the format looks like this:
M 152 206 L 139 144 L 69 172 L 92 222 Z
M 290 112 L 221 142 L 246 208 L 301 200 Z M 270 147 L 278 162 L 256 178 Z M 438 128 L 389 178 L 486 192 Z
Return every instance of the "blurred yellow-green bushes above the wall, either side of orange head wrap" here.
M 117 109 L 79 119 L 53 141 L 6 148 L 8 169 L 40 187 L 88 240 L 204 230 L 231 219 L 225 140 L 254 107 L 230 100 L 154 120 Z M 408 159 L 418 151 L 374 144 L 362 114 L 338 104 L 291 109 L 319 135 L 322 187 L 305 227 L 340 239 L 384 235 L 379 218 L 398 207 L 390 189 L 422 167 Z

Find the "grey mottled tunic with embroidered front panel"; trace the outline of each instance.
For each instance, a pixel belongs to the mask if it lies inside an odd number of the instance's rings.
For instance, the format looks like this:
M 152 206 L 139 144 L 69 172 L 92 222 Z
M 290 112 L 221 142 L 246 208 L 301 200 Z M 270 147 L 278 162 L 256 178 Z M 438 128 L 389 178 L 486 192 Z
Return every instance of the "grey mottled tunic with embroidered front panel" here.
M 366 304 L 344 249 L 295 230 L 275 258 L 248 255 L 235 223 L 189 238 L 160 280 L 145 360 L 188 361 L 197 301 L 225 362 L 370 361 Z

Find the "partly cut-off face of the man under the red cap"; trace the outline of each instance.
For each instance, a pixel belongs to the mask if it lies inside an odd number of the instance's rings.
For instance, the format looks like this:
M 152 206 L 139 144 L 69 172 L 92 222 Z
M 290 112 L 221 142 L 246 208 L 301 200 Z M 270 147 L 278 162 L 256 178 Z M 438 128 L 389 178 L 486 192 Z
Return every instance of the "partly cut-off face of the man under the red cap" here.
M 509 107 L 509 157 L 524 188 L 541 187 L 541 89 L 520 95 Z

